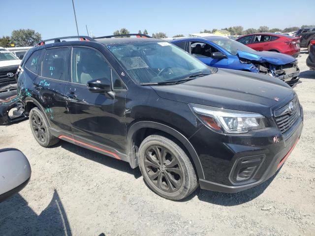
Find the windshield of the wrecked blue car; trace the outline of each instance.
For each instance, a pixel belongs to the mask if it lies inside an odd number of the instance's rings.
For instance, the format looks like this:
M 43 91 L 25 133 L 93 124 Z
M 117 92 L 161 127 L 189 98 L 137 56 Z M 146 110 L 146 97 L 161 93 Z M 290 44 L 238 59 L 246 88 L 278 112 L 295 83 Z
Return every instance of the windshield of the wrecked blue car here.
M 228 39 L 228 38 L 215 38 L 211 39 L 208 38 L 211 42 L 214 42 L 215 44 L 218 44 L 221 48 L 224 48 L 226 51 L 228 51 L 232 55 L 237 55 L 237 50 L 243 51 L 246 53 L 255 53 L 256 51 L 251 49 L 250 47 L 244 45 L 243 43 Z

